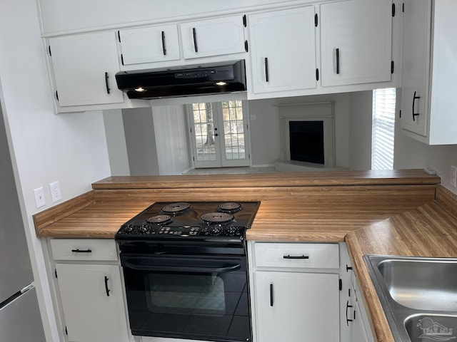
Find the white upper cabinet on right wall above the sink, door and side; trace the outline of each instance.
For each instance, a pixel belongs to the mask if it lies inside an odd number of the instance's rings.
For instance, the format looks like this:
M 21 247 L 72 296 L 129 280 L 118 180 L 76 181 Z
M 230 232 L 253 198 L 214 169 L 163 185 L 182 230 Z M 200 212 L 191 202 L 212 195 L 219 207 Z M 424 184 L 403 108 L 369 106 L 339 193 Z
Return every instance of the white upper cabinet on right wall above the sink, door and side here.
M 401 128 L 430 145 L 457 144 L 457 1 L 404 4 Z

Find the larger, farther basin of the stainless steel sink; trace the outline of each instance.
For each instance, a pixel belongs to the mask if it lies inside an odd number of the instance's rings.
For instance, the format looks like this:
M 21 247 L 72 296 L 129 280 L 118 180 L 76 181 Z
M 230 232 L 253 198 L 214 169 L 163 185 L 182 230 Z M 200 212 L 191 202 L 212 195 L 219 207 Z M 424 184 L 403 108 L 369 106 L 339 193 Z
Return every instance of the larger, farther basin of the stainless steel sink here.
M 411 309 L 457 311 L 457 260 L 384 259 L 377 268 L 392 299 Z

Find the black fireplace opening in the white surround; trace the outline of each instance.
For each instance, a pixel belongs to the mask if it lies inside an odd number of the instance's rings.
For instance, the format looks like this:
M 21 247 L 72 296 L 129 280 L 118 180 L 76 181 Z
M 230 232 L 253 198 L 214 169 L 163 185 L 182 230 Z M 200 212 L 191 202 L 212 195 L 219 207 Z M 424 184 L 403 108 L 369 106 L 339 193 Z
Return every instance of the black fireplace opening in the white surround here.
M 289 121 L 291 160 L 324 164 L 323 121 Z

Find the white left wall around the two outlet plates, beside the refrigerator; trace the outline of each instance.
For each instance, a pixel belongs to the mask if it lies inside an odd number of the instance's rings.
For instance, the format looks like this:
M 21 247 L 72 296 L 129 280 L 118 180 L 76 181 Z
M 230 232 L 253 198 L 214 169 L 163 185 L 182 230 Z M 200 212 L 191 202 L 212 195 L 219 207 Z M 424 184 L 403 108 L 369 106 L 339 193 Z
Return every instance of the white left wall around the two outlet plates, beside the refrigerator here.
M 101 112 L 52 112 L 35 0 L 1 0 L 0 81 L 46 337 L 59 341 L 41 240 L 36 238 L 31 215 L 51 207 L 50 182 L 59 180 L 65 201 L 89 191 L 92 182 L 110 175 L 103 117 Z M 44 188 L 46 207 L 36 209 L 36 187 Z

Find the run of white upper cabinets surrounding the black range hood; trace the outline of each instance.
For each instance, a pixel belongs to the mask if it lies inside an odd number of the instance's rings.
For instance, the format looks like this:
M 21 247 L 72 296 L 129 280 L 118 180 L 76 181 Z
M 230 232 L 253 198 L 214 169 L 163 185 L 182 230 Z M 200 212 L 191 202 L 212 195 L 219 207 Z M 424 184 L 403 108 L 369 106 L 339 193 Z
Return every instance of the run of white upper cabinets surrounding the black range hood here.
M 46 38 L 56 111 L 147 105 L 117 88 L 120 70 L 241 59 L 246 60 L 248 99 L 400 86 L 401 63 L 393 74 L 392 67 L 401 59 L 403 16 L 397 10 L 393 17 L 393 0 L 302 2 L 249 7 L 246 15 L 241 7 L 227 16 L 196 12 Z

